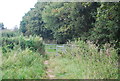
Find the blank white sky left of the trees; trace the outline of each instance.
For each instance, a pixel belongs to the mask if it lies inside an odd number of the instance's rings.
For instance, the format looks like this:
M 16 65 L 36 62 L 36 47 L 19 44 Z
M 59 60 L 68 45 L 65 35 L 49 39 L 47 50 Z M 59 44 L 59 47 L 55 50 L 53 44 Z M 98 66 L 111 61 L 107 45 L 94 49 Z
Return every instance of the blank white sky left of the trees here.
M 34 8 L 37 0 L 0 0 L 0 22 L 4 27 L 13 29 L 19 27 L 20 21 L 30 8 Z

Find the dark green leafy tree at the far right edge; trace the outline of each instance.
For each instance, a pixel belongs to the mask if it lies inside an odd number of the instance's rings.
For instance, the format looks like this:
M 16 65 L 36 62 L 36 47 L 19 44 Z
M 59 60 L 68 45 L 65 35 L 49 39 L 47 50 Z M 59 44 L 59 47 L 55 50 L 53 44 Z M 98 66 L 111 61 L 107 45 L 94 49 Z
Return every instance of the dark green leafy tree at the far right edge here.
M 96 22 L 91 30 L 90 40 L 97 44 L 111 43 L 120 48 L 120 3 L 101 3 L 97 9 Z

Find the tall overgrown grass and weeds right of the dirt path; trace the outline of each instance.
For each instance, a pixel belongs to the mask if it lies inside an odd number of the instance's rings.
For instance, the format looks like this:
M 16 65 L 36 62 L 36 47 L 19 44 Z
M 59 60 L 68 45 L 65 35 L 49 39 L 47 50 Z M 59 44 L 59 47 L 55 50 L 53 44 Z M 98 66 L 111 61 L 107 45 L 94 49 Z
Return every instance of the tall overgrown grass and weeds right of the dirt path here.
M 118 56 L 109 44 L 103 49 L 91 42 L 76 41 L 73 48 L 50 59 L 49 67 L 58 79 L 118 79 Z

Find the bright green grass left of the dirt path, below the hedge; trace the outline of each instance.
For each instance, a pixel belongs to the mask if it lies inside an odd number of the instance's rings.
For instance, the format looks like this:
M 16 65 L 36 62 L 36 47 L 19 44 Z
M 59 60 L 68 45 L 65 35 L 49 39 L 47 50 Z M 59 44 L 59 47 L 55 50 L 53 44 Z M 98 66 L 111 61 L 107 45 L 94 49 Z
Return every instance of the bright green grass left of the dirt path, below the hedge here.
M 29 49 L 15 49 L 2 54 L 3 79 L 41 79 L 45 74 L 44 58 Z

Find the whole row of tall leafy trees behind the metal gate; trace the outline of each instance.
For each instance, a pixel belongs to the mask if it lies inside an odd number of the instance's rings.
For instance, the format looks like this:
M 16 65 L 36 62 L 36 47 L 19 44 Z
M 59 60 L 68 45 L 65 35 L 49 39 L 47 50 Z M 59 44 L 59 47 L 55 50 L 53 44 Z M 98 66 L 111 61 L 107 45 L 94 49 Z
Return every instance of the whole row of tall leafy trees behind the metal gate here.
M 100 2 L 37 2 L 23 16 L 24 35 L 66 43 L 74 38 L 120 47 L 119 4 Z

